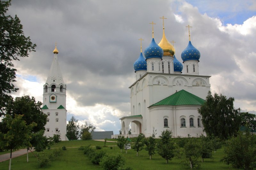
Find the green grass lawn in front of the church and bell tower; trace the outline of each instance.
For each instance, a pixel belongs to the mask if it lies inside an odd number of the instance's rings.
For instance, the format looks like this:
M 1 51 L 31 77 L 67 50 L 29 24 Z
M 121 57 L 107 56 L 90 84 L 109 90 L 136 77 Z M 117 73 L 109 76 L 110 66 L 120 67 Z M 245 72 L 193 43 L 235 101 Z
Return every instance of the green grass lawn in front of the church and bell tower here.
M 59 144 L 56 144 L 54 147 L 80 147 L 81 145 L 92 146 L 100 145 L 103 146 L 104 142 L 100 141 L 62 141 Z M 114 143 L 108 143 L 107 145 L 113 145 Z M 136 156 L 136 151 L 128 150 L 128 153 L 120 152 L 120 149 L 115 146 L 113 149 L 110 147 L 103 147 L 104 151 L 108 154 L 122 154 L 126 159 L 126 165 L 130 166 L 134 170 L 136 169 L 189 169 L 189 167 L 184 167 L 180 164 L 181 160 L 174 158 L 169 161 L 169 164 L 165 164 L 165 159 L 161 158 L 157 153 L 152 156 L 152 160 L 149 159 L 148 152 L 142 150 L 139 152 L 139 156 Z M 44 152 L 49 152 L 45 150 Z M 35 152 L 36 153 L 36 152 Z M 220 162 L 220 158 L 223 156 L 223 149 L 217 150 L 216 153 L 213 153 L 214 159 L 204 159 L 204 163 L 201 163 L 201 169 L 207 170 L 226 170 L 234 169 L 230 165 L 226 165 Z M 29 162 L 26 161 L 26 155 L 12 159 L 12 170 L 15 169 L 102 169 L 98 165 L 93 165 L 87 156 L 84 155 L 83 151 L 78 150 L 78 148 L 67 148 L 66 151 L 62 151 L 62 154 L 53 160 L 50 163 L 50 166 L 39 168 L 37 165 L 37 159 L 33 156 L 32 153 L 29 153 Z M 8 169 L 9 160 L 0 162 L 0 169 Z

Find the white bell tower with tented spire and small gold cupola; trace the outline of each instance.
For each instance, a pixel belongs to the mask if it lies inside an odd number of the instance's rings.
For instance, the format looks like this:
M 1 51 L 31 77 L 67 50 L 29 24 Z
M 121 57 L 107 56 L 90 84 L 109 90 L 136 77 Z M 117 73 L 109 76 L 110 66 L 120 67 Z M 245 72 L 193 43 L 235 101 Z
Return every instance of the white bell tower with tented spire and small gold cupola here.
M 58 63 L 56 44 L 53 50 L 54 58 L 52 66 L 44 85 L 43 107 L 44 114 L 48 115 L 45 125 L 46 137 L 53 137 L 60 132 L 61 140 L 68 140 L 67 134 L 67 110 L 66 110 L 66 85 L 64 84 Z

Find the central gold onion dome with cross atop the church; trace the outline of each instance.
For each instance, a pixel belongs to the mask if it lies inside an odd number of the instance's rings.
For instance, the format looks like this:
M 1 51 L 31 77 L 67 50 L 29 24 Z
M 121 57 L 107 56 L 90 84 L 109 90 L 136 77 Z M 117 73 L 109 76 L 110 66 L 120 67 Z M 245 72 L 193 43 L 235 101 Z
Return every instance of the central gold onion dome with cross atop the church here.
M 164 50 L 164 55 L 174 56 L 175 54 L 175 48 L 172 46 L 172 44 L 166 39 L 165 33 L 164 33 L 164 16 L 161 18 L 163 19 L 163 38 L 159 42 L 159 46 Z

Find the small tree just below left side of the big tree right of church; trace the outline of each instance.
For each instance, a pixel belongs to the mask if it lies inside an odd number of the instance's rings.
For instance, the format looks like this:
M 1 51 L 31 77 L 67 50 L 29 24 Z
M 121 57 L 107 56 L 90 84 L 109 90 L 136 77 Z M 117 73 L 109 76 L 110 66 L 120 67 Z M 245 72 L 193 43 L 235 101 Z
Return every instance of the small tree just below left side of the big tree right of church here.
M 205 158 L 212 159 L 212 150 L 213 150 L 212 140 L 209 137 L 205 137 L 204 135 L 201 135 L 199 142 L 201 144 L 200 154 L 201 154 L 202 162 L 204 162 Z

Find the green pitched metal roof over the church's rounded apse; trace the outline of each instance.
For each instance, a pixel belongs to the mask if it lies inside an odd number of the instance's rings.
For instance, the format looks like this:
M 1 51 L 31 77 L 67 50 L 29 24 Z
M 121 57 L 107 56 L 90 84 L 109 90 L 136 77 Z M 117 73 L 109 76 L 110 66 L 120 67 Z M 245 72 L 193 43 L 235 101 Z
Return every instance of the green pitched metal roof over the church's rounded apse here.
M 151 105 L 151 106 L 160 106 L 160 105 L 203 105 L 205 102 L 204 99 L 197 97 L 196 95 L 187 92 L 185 90 L 180 90 L 172 94 L 171 96 Z M 149 106 L 149 107 L 151 107 Z

